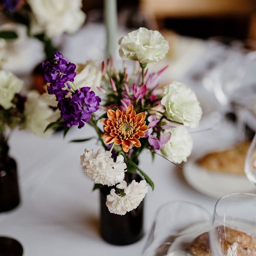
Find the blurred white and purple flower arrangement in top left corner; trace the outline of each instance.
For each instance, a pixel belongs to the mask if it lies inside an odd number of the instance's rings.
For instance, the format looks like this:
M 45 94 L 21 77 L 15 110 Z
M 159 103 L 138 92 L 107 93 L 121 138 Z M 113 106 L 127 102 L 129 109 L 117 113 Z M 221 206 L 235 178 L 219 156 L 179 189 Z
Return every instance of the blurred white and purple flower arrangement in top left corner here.
M 83 24 L 86 15 L 81 10 L 82 0 L 0 0 L 0 10 L 15 23 L 28 28 L 28 35 L 44 44 L 46 59 L 56 50 L 52 39 L 64 33 L 74 33 Z M 17 38 L 17 32 L 4 29 L 0 38 Z

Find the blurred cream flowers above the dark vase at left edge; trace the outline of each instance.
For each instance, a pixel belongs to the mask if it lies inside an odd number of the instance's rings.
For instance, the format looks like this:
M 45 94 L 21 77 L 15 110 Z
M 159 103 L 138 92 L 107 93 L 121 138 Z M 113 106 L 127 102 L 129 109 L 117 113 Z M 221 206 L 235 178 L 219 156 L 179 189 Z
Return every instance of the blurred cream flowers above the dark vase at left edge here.
M 44 129 L 54 112 L 44 96 L 37 91 L 24 95 L 24 81 L 9 71 L 0 70 L 0 80 L 0 150 L 16 127 L 38 136 L 51 134 L 53 130 L 44 133 Z

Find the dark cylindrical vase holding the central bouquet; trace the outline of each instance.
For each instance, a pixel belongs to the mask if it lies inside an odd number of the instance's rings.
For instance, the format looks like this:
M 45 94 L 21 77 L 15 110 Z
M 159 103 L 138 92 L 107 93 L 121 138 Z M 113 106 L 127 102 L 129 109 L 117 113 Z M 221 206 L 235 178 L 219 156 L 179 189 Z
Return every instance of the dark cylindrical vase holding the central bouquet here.
M 127 173 L 125 180 L 140 182 L 142 178 L 137 174 Z M 127 212 L 125 215 L 117 215 L 109 212 L 106 206 L 107 195 L 113 187 L 104 186 L 100 189 L 100 233 L 102 238 L 110 244 L 127 245 L 139 241 L 143 235 L 143 201 L 140 205 Z

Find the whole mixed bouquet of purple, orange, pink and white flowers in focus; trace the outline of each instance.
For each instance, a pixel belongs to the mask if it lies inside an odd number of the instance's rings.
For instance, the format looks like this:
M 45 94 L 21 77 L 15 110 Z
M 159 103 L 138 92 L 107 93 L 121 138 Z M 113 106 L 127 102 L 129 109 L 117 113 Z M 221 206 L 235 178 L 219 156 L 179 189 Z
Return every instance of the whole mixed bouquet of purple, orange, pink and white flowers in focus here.
M 92 62 L 81 66 L 70 63 L 60 52 L 43 63 L 49 94 L 55 95 L 60 117 L 48 128 L 91 125 L 102 148 L 85 149 L 80 156 L 84 173 L 94 188 L 110 186 L 106 205 L 111 213 L 124 215 L 138 207 L 153 181 L 139 167 L 143 150 L 160 154 L 172 163 L 186 161 L 192 138 L 186 127 L 195 128 L 202 110 L 195 93 L 185 84 L 173 81 L 159 88 L 166 68 L 149 73 L 147 65 L 164 58 L 168 42 L 158 31 L 140 28 L 119 40 L 119 55 L 124 60 L 116 71 L 113 59 L 101 68 Z M 125 61 L 134 61 L 128 73 Z M 81 68 L 82 67 L 82 68 Z M 99 76 L 101 79 L 99 79 Z M 84 140 L 80 141 L 85 141 Z M 125 181 L 127 173 L 139 172 L 139 183 Z

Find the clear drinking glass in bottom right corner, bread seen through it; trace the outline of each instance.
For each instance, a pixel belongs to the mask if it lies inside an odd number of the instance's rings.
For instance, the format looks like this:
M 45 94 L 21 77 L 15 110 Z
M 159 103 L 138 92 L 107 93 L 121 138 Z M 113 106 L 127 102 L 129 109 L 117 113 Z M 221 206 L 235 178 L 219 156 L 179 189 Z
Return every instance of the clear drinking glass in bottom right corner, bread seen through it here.
M 209 241 L 212 256 L 255 256 L 256 195 L 235 193 L 219 199 Z

